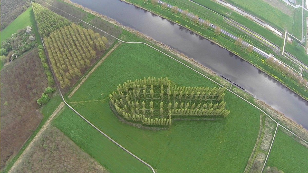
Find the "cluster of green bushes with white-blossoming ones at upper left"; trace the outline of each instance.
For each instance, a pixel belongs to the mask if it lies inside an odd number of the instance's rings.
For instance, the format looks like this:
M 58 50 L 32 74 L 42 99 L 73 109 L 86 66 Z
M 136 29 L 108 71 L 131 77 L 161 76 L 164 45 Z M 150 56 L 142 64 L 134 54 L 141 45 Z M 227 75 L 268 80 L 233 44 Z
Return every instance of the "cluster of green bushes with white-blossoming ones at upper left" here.
M 36 46 L 35 34 L 30 26 L 18 30 L 16 34 L 1 43 L 0 54 L 6 56 L 6 58 L 1 58 L 2 62 L 14 61 L 18 56 Z

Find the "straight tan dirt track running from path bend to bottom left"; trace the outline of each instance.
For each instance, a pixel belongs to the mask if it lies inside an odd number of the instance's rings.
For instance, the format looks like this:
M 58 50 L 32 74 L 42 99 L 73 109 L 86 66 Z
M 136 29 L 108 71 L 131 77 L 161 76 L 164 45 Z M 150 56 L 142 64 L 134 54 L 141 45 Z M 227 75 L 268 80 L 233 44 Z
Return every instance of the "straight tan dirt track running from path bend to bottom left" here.
M 50 126 L 50 122 L 51 120 L 55 117 L 55 115 L 57 115 L 57 113 L 62 109 L 62 107 L 64 106 L 64 103 L 61 102 L 59 104 L 59 106 L 57 107 L 57 109 L 52 113 L 52 115 L 49 117 L 49 119 L 46 121 L 46 123 L 43 125 L 43 127 L 41 128 L 41 130 L 36 134 L 36 136 L 32 139 L 32 141 L 30 142 L 30 144 L 26 147 L 26 149 L 22 152 L 22 154 L 19 156 L 19 158 L 16 160 L 16 162 L 14 163 L 14 165 L 11 167 L 11 169 L 9 170 L 9 173 L 12 172 L 16 165 L 18 165 L 24 155 L 26 154 L 26 152 L 32 147 L 33 143 L 39 139 L 39 137 L 42 135 L 42 133 Z

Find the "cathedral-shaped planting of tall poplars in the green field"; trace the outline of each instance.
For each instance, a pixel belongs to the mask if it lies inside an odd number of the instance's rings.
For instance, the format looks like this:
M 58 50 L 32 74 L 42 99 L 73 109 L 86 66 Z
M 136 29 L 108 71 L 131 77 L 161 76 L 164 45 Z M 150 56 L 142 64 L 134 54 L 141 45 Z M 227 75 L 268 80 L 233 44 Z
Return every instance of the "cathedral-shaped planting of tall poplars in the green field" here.
M 227 116 L 225 88 L 176 87 L 168 78 L 148 77 L 117 86 L 109 95 L 112 106 L 125 119 L 143 125 L 168 126 L 172 117 Z

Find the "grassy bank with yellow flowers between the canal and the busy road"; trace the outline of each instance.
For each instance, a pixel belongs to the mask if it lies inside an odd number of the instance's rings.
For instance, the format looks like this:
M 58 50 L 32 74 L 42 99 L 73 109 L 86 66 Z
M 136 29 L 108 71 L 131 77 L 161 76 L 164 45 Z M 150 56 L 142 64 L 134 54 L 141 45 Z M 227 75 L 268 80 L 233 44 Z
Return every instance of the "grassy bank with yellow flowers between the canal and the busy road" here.
M 145 3 L 145 2 L 138 1 L 138 0 L 131 0 L 130 2 L 136 2 L 135 4 L 138 6 L 142 6 L 145 9 L 148 9 L 156 14 L 159 14 L 163 16 L 164 18 L 168 18 L 169 20 L 172 20 L 182 26 L 187 27 L 188 29 L 195 31 L 196 33 L 200 35 L 205 36 L 206 38 L 211 39 L 212 41 L 225 47 L 226 49 L 233 52 L 234 54 L 239 55 L 241 58 L 250 62 L 254 66 L 258 67 L 259 69 L 265 71 L 267 74 L 270 74 L 273 78 L 275 78 L 279 82 L 289 87 L 292 91 L 308 99 L 308 91 L 306 88 L 304 88 L 303 86 L 299 86 L 299 84 L 296 81 L 282 74 L 278 70 L 278 68 L 269 66 L 269 64 L 266 62 L 266 58 L 264 58 L 263 56 L 255 52 L 248 53 L 242 47 L 236 46 L 232 38 L 229 38 L 225 36 L 224 34 L 215 35 L 215 33 L 213 32 L 213 28 L 210 27 L 209 29 L 206 29 L 204 28 L 204 26 L 193 23 L 193 21 L 191 21 L 188 18 L 183 18 L 180 13 L 178 14 L 172 13 L 169 8 L 163 9 L 160 7 L 160 5 L 153 6 L 152 3 L 149 3 L 149 2 Z M 140 3 L 140 4 L 137 4 L 137 3 Z M 282 60 L 282 58 L 280 58 L 280 60 Z

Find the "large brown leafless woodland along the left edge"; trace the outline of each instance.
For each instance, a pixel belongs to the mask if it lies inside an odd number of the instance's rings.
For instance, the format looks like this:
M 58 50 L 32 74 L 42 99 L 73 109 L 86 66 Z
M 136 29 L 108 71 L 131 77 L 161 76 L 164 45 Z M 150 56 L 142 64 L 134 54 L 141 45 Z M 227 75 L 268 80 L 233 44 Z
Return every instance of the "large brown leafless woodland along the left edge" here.
M 43 118 L 36 100 L 47 87 L 47 78 L 37 49 L 5 66 L 0 74 L 0 167 L 3 168 Z

